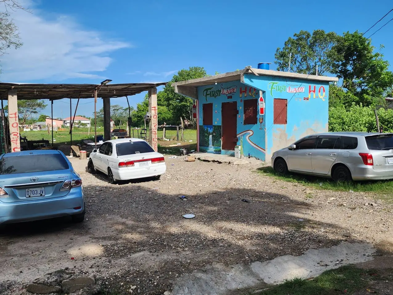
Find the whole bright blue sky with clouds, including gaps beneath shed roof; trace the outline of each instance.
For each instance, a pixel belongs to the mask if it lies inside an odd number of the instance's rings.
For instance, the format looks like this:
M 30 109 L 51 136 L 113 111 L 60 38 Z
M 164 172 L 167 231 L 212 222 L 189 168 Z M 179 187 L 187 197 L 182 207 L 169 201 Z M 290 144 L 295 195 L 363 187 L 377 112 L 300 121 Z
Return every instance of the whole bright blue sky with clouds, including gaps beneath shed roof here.
M 13 15 L 24 46 L 1 58 L 4 82 L 157 82 L 189 66 L 230 72 L 273 63 L 276 48 L 299 30 L 365 31 L 393 8 L 391 0 L 21 2 L 31 9 Z M 366 37 L 392 17 L 393 12 Z M 372 37 L 378 50 L 384 44 L 381 52 L 391 64 L 392 35 L 393 21 Z M 130 97 L 130 103 L 136 106 L 144 95 Z M 77 114 L 91 116 L 92 102 L 81 101 Z M 125 98 L 111 103 L 127 106 Z M 69 100 L 54 103 L 54 117 L 69 116 L 69 110 Z M 44 113 L 50 114 L 49 103 Z

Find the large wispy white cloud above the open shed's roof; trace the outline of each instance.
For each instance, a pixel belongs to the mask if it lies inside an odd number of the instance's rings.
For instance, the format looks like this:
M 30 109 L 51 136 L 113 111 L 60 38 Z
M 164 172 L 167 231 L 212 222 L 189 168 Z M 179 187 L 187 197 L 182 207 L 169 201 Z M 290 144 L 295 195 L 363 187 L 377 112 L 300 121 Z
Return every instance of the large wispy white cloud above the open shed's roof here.
M 23 46 L 10 49 L 1 59 L 2 81 L 20 82 L 70 77 L 102 78 L 111 62 L 110 52 L 132 47 L 121 41 L 109 40 L 99 32 L 81 28 L 66 15 L 47 20 L 31 2 L 23 1 L 32 13 L 16 11 L 11 15 L 19 27 Z

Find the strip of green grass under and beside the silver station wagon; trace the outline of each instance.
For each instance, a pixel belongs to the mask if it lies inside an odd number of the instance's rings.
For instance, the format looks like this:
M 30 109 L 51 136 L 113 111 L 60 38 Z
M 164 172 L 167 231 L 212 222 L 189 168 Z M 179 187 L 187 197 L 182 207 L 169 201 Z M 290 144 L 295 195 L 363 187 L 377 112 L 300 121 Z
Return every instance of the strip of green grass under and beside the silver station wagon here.
M 288 174 L 279 175 L 271 167 L 258 168 L 257 172 L 263 175 L 272 176 L 275 179 L 280 179 L 290 183 L 299 183 L 304 186 L 309 186 L 325 190 L 337 190 L 343 192 L 377 192 L 386 194 L 386 200 L 393 201 L 393 181 L 353 181 L 346 183 L 336 183 L 332 179 L 316 177 L 303 174 Z

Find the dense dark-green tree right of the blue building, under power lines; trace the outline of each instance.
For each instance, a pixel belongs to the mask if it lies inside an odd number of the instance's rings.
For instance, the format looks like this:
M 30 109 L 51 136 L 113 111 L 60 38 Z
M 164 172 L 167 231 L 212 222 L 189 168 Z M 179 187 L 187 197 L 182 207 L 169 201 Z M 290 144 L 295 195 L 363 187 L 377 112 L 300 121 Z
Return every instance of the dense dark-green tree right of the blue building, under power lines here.
M 384 103 L 383 97 L 391 92 L 393 85 L 389 62 L 383 59 L 382 53 L 374 50 L 371 39 L 356 31 L 338 37 L 338 42 L 328 53 L 331 72 L 343 79 L 343 88 L 364 106 Z

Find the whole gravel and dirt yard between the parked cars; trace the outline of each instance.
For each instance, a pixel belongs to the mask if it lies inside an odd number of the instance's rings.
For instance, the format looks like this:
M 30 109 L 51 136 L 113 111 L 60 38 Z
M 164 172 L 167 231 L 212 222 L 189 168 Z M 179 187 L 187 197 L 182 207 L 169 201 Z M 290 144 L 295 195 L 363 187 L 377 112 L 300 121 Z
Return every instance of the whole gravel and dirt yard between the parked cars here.
M 111 185 L 86 172 L 86 161 L 73 163 L 83 180 L 85 221 L 1 227 L 0 293 L 23 294 L 26 284 L 55 272 L 95 277 L 99 288 L 119 293 L 163 294 L 176 278 L 211 264 L 251 264 L 343 240 L 392 255 L 393 206 L 375 194 L 306 194 L 299 184 L 255 173 L 259 164 L 183 157 L 167 159 L 158 181 Z

